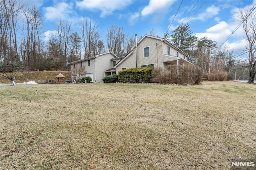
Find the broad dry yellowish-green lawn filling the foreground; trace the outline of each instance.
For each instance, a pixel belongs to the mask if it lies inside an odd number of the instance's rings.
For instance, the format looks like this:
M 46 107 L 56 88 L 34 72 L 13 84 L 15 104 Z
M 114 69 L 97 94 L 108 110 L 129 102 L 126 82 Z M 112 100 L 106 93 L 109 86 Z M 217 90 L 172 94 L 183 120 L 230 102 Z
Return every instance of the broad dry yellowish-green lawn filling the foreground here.
M 238 82 L 0 87 L 0 170 L 230 169 L 256 160 L 255 103 Z

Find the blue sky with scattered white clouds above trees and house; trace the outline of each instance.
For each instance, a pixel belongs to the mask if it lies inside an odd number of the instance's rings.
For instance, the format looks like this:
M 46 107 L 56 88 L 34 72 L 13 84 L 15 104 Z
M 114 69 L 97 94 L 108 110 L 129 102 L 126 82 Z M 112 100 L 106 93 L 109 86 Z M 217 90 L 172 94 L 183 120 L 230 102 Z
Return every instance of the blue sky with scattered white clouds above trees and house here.
M 30 6 L 36 5 L 40 8 L 44 18 L 45 35 L 54 32 L 58 20 L 72 22 L 72 32 L 79 32 L 78 25 L 81 18 L 88 18 L 92 23 L 99 25 L 98 30 L 102 40 L 105 40 L 106 28 L 111 25 L 123 26 L 129 35 L 138 34 L 138 37 L 154 29 L 156 35 L 163 37 L 169 27 L 168 32 L 171 34 L 179 24 L 189 23 L 193 34 L 198 38 L 206 36 L 220 45 L 240 24 L 236 19 L 239 9 L 252 8 L 256 0 L 26 0 L 26 2 Z M 234 48 L 234 52 L 238 55 L 245 50 L 244 38 L 245 34 L 241 26 L 226 43 L 230 48 Z

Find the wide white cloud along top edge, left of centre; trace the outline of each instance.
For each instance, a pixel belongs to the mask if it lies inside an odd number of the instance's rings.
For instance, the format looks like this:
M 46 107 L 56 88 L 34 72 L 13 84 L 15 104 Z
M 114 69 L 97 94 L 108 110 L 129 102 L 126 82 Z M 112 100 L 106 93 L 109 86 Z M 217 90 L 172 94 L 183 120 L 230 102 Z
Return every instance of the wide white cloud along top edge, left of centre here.
M 76 2 L 80 9 L 100 10 L 100 17 L 113 14 L 114 10 L 122 10 L 129 6 L 132 0 L 83 0 Z

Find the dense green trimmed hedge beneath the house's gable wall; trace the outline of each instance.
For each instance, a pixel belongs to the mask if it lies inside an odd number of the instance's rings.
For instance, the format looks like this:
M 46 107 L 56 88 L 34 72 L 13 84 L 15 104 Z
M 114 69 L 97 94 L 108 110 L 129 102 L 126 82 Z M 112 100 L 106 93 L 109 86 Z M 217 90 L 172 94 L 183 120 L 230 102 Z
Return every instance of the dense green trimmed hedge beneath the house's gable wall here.
M 136 82 L 149 83 L 153 67 L 130 68 L 118 72 L 118 81 L 121 83 Z

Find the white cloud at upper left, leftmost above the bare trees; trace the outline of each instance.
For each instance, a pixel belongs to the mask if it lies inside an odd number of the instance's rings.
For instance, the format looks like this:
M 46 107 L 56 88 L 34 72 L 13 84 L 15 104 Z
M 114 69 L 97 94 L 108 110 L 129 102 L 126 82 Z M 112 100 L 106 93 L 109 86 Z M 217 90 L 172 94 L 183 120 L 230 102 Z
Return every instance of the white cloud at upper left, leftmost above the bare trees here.
M 43 8 L 45 11 L 44 16 L 46 20 L 54 21 L 54 20 L 68 20 L 70 19 L 70 15 L 76 14 L 73 10 L 73 4 L 67 4 L 65 2 L 60 2 L 55 6 L 48 6 Z

